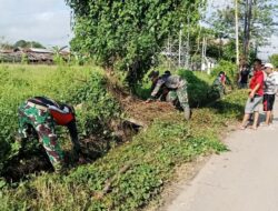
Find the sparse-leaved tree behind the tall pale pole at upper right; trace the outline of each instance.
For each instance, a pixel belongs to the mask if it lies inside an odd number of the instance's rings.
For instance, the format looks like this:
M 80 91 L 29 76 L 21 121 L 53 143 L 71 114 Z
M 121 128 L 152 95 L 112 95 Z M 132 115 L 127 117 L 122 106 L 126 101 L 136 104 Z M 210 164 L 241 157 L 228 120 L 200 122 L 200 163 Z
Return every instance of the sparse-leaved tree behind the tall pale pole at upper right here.
M 240 49 L 246 59 L 276 32 L 277 9 L 278 3 L 272 0 L 239 0 Z M 235 8 L 218 10 L 214 17 L 214 28 L 235 38 Z

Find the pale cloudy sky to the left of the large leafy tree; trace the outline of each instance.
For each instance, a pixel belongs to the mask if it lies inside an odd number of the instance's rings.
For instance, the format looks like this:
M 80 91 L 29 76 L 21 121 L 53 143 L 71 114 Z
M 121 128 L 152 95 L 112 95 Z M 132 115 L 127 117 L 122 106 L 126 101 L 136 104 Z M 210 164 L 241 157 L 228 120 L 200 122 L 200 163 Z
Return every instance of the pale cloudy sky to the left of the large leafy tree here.
M 63 0 L 0 0 L 0 37 L 7 41 L 39 41 L 66 46 L 70 40 L 70 9 Z

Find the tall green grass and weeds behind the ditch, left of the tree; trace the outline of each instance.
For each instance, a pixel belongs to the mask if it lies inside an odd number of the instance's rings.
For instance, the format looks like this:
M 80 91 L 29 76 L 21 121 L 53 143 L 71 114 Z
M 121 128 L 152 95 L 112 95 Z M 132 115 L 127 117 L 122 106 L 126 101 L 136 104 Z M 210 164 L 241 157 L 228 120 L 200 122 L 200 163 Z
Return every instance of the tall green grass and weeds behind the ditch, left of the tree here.
M 0 170 L 18 152 L 14 134 L 20 103 L 34 96 L 46 96 L 77 110 L 79 132 L 103 132 L 119 107 L 106 90 L 102 70 L 97 67 L 0 66 Z

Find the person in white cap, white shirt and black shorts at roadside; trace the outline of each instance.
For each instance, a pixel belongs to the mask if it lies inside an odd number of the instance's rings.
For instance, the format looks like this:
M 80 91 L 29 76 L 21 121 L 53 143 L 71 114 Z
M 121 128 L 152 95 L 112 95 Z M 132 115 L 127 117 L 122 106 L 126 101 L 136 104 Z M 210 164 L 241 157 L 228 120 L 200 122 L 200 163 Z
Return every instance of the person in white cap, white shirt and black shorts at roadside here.
M 269 123 L 272 122 L 272 108 L 275 103 L 275 94 L 277 92 L 274 66 L 271 63 L 266 63 L 265 72 L 267 74 L 264 93 L 264 111 L 266 112 L 266 121 L 262 125 L 269 125 Z

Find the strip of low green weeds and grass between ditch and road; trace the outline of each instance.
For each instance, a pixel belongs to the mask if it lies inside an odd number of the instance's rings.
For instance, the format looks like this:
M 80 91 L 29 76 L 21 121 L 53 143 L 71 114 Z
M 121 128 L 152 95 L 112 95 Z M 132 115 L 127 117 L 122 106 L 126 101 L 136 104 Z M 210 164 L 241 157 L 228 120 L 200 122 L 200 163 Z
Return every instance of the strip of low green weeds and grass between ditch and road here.
M 201 114 L 203 111 L 200 111 Z M 199 154 L 220 152 L 225 145 L 217 129 L 196 131 L 196 122 L 186 123 L 177 113 L 172 120 L 155 121 L 130 143 L 110 151 L 92 164 L 73 169 L 69 175 L 46 174 L 3 191 L 4 208 L 46 210 L 136 210 L 157 195 L 173 173 L 173 167 Z M 219 127 L 218 124 L 215 124 Z M 206 133 L 205 133 L 206 132 Z M 130 168 L 118 173 L 125 165 Z M 102 199 L 95 198 L 106 181 L 117 179 Z M 27 194 L 27 192 L 32 194 Z

